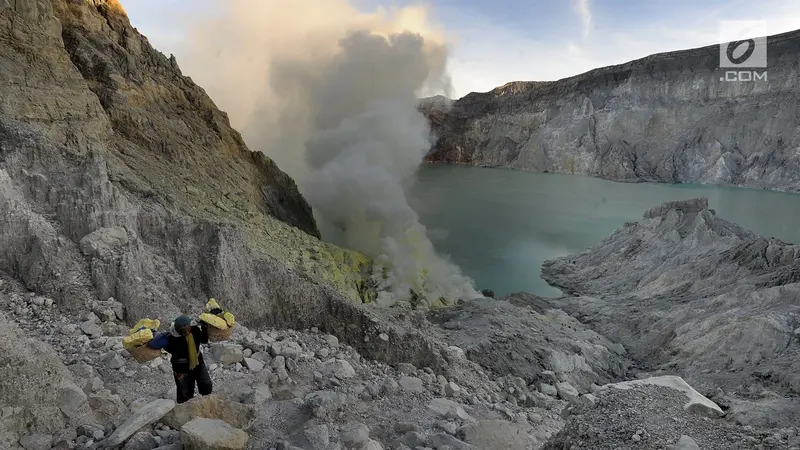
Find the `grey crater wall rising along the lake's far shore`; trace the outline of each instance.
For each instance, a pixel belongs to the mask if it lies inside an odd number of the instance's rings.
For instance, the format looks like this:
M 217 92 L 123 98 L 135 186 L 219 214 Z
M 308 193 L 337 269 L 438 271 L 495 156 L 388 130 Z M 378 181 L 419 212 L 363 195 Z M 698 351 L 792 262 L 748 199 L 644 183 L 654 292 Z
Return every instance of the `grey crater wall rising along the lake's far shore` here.
M 768 81 L 721 81 L 719 47 L 423 102 L 427 160 L 617 181 L 800 191 L 800 32 L 768 38 Z M 759 72 L 760 73 L 760 72 Z

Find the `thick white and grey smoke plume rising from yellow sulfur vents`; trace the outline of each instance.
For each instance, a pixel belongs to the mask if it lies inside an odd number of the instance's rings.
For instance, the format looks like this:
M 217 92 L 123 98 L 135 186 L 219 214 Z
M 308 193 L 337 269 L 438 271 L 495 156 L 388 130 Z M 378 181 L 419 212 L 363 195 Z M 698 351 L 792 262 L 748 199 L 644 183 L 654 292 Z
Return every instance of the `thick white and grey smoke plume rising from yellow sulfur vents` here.
M 410 292 L 477 296 L 437 255 L 406 198 L 430 130 L 420 95 L 448 93 L 447 46 L 410 7 L 365 14 L 346 0 L 238 0 L 198 23 L 184 70 L 297 180 L 327 240 L 372 256 L 380 303 Z

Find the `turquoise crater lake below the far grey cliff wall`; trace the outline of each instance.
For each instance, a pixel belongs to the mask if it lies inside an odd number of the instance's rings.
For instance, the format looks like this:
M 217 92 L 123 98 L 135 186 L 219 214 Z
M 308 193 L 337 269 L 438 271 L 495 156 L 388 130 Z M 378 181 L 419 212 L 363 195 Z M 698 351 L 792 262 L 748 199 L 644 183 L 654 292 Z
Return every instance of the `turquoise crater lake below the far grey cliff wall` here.
M 478 289 L 552 296 L 560 292 L 541 279 L 544 261 L 581 252 L 660 203 L 694 197 L 763 236 L 800 242 L 800 195 L 757 189 L 433 164 L 420 168 L 411 204 L 437 250 Z

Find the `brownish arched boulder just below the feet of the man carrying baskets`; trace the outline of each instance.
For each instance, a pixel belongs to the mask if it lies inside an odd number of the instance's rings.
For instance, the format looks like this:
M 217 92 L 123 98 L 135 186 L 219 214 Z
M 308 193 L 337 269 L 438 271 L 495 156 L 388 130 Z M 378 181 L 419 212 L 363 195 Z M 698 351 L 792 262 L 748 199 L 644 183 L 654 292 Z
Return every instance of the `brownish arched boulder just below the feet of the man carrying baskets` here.
M 234 428 L 247 430 L 256 420 L 256 409 L 252 405 L 234 402 L 219 394 L 211 394 L 195 397 L 175 406 L 164 416 L 162 422 L 177 430 L 198 417 L 221 420 Z

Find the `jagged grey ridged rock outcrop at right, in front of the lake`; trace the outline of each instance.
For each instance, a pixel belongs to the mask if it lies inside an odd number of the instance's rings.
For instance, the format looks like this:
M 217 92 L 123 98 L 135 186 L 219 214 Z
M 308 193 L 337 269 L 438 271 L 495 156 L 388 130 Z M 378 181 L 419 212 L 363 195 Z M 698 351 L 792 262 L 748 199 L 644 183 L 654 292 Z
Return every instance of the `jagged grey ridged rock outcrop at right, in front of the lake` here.
M 800 414 L 772 401 L 800 395 L 800 246 L 717 217 L 703 198 L 655 207 L 542 272 L 570 295 L 553 304 L 652 369 L 764 400 L 773 425 Z

